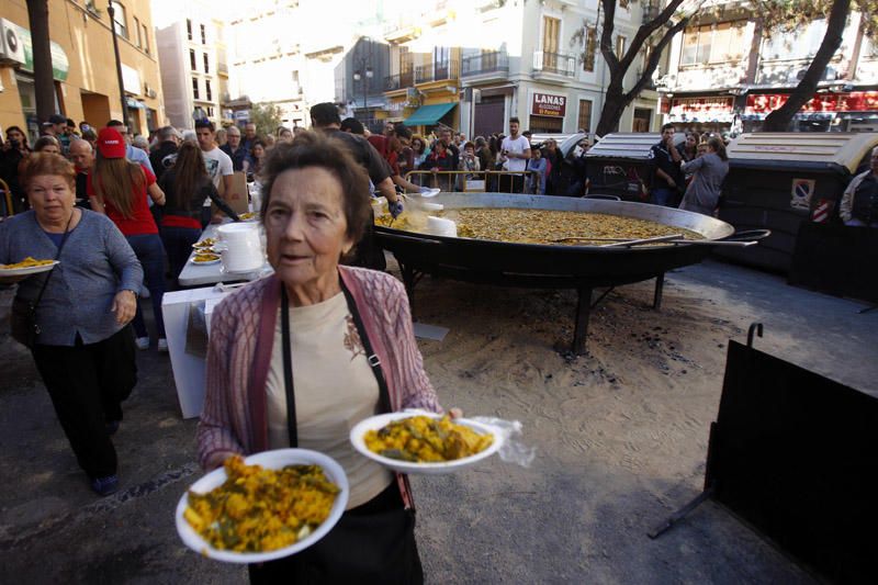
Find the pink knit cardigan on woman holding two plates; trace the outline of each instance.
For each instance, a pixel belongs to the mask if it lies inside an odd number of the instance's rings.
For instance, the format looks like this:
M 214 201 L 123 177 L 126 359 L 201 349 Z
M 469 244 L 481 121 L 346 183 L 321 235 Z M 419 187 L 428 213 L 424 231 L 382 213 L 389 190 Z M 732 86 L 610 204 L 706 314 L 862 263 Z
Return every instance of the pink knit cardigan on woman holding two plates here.
M 384 272 L 339 267 L 381 360 L 391 408 L 441 412 L 424 371 L 408 299 L 402 283 Z M 204 410 L 198 430 L 199 460 L 213 469 L 230 454 L 268 449 L 266 379 L 271 362 L 280 281 L 271 275 L 224 299 L 211 318 Z M 407 482 L 397 475 L 410 506 Z

